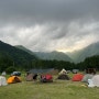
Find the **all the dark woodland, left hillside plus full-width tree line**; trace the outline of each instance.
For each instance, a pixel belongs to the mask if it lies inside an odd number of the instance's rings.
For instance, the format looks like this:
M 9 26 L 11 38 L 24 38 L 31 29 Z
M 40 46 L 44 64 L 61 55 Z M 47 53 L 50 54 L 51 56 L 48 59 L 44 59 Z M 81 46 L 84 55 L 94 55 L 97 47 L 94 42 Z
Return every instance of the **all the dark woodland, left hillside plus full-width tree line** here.
M 79 70 L 85 70 L 86 68 L 99 69 L 99 55 L 87 57 L 84 62 L 77 64 L 69 61 L 38 59 L 26 51 L 0 42 L 0 72 L 8 70 L 10 67 L 23 70 L 31 68 L 65 68 L 69 70 L 74 68 Z

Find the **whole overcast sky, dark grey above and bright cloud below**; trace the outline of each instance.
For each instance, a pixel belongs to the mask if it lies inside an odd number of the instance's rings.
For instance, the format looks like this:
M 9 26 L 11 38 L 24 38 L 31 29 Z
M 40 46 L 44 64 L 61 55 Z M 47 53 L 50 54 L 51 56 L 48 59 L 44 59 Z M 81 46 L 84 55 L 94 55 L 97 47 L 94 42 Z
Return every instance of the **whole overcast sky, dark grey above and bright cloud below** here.
M 0 40 L 41 52 L 82 48 L 99 42 L 99 0 L 0 0 Z

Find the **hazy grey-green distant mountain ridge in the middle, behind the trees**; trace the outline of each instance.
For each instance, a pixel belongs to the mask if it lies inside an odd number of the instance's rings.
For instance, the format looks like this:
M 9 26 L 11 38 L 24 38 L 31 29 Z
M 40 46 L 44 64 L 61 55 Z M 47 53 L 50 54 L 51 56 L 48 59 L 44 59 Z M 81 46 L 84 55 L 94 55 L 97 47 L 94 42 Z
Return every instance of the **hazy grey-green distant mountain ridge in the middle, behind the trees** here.
M 15 47 L 23 50 L 32 55 L 35 55 L 37 56 L 37 58 L 41 58 L 41 59 L 48 59 L 48 61 L 56 59 L 56 61 L 73 62 L 72 58 L 69 58 L 65 53 L 61 53 L 56 51 L 54 52 L 32 52 L 22 45 L 16 45 Z

